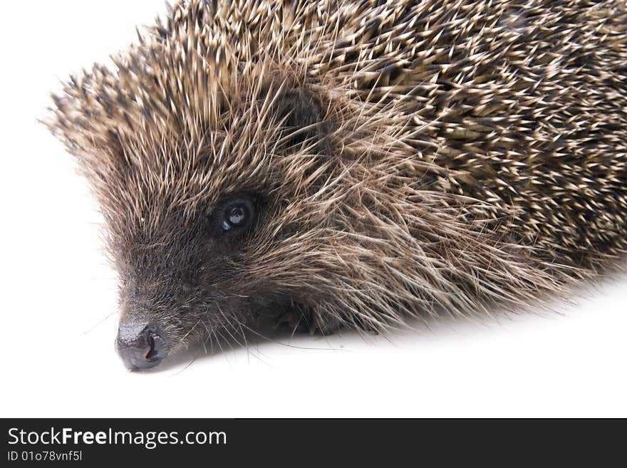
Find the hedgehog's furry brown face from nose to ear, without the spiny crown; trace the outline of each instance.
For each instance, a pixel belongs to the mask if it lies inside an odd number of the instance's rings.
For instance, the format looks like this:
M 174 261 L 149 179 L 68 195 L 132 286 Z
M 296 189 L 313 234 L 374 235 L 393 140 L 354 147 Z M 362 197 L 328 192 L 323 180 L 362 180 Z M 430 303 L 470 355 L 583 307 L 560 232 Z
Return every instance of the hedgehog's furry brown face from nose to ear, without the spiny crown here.
M 192 339 L 239 340 L 255 316 L 314 300 L 306 257 L 327 218 L 311 195 L 331 159 L 321 110 L 293 90 L 247 104 L 206 143 L 169 150 L 180 153 L 167 165 L 125 165 L 119 201 L 104 207 L 129 368 L 151 368 Z

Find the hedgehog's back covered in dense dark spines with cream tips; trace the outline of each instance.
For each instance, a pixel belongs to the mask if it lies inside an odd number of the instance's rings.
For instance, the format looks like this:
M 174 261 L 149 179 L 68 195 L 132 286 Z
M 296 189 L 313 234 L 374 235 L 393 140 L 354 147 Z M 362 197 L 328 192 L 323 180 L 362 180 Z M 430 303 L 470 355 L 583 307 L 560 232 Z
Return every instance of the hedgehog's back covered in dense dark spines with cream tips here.
M 463 210 L 548 260 L 626 249 L 623 2 L 321 3 L 308 70 L 405 116 L 422 187 L 489 202 Z

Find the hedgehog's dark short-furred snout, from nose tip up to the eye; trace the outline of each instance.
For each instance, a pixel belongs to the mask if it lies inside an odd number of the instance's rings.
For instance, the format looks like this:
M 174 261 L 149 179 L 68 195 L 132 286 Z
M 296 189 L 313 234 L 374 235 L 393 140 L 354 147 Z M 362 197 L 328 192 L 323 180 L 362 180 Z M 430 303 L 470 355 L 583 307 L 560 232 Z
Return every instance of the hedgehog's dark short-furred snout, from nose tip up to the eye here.
M 251 313 L 278 301 L 249 263 L 266 208 L 244 192 L 188 213 L 153 207 L 142 222 L 125 224 L 113 256 L 121 281 L 117 346 L 129 368 L 153 367 L 189 338 L 239 335 Z

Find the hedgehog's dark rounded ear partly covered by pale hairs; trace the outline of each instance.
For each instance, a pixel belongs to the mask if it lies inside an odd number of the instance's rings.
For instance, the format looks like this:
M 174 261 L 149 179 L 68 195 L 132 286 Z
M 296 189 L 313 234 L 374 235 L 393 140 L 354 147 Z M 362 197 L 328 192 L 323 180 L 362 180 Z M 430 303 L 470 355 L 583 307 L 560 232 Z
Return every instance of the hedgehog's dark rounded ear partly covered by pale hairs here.
M 275 100 L 277 120 L 283 123 L 280 140 L 289 147 L 307 146 L 328 151 L 327 128 L 321 104 L 304 90 L 288 88 Z

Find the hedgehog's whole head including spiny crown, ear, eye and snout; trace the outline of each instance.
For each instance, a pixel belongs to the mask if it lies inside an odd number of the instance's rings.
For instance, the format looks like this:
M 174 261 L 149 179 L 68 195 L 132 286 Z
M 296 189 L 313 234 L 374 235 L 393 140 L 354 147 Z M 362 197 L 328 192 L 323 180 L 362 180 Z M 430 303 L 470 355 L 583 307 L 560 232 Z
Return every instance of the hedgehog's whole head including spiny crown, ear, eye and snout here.
M 314 306 L 341 249 L 331 101 L 271 60 L 218 66 L 186 47 L 142 43 L 55 98 L 51 127 L 105 219 L 130 368 Z

